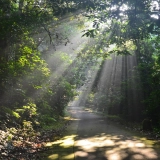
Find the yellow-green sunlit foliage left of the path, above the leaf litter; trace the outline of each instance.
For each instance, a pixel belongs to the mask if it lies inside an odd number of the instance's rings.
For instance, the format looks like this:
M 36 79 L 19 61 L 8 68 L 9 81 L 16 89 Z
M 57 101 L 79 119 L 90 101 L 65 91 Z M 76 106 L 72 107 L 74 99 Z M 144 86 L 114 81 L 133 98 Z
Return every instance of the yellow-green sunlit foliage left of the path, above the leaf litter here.
M 67 67 L 71 60 L 65 53 L 61 56 L 57 54 L 54 55 L 57 64 L 48 65 L 44 56 L 37 51 L 38 43 L 33 35 L 45 30 L 50 36 L 47 25 L 50 20 L 57 20 L 54 15 L 59 15 L 65 1 L 20 0 L 0 3 L 1 128 L 29 124 L 35 129 L 51 124 L 63 115 L 64 107 L 75 94 L 73 85 L 66 78 L 57 78 L 57 84 L 52 78 L 55 80 L 58 73 L 52 76 L 51 72 L 64 61 L 66 64 L 63 67 Z M 58 10 L 52 10 L 57 4 Z M 71 2 L 64 7 L 72 8 Z M 66 37 L 71 28 L 67 25 L 63 27 L 62 36 Z

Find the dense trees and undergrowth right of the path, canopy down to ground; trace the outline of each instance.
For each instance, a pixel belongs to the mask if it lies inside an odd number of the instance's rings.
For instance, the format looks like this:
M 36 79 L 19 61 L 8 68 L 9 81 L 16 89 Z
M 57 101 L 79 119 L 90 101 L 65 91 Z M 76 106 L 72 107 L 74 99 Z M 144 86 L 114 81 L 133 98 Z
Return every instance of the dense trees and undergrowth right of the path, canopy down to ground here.
M 87 16 L 94 20 L 93 28 L 86 30 L 85 35 L 95 37 L 99 32 L 103 34 L 99 39 L 101 55 L 104 57 L 112 53 L 125 55 L 123 57 L 125 73 L 121 81 L 121 95 L 117 94 L 118 92 L 114 88 L 116 86 L 112 86 L 111 90 L 114 92 L 112 92 L 111 98 L 108 98 L 110 91 L 106 88 L 105 94 L 99 96 L 100 99 L 103 99 L 103 102 L 102 100 L 99 102 L 100 106 L 109 104 L 109 108 L 105 112 L 120 115 L 130 121 L 151 119 L 153 124 L 159 128 L 159 1 L 97 1 L 94 7 L 90 7 Z M 105 29 L 101 32 L 104 26 Z M 105 48 L 112 44 L 116 44 L 116 47 L 111 51 L 106 51 Z M 132 71 L 134 76 L 129 77 L 127 57 L 134 54 L 137 65 Z M 131 83 L 132 81 L 136 83 Z M 95 83 L 93 91 L 97 84 Z M 139 101 L 136 106 L 133 105 L 135 102 L 132 102 L 135 98 L 131 94 L 133 91 L 141 97 L 136 95 L 135 100 Z M 105 107 L 102 108 L 105 110 Z

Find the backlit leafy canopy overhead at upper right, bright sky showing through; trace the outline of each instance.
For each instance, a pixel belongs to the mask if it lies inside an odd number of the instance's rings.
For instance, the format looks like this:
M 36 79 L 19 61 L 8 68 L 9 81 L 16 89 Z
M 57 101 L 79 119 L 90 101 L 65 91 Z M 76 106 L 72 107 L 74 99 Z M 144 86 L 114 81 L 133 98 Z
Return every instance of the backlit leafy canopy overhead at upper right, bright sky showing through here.
M 86 13 L 86 17 L 93 20 L 93 28 L 85 30 L 83 36 L 95 37 L 104 33 L 104 28 L 108 28 L 107 32 L 112 34 L 110 44 L 123 45 L 125 41 L 138 43 L 139 40 L 149 38 L 151 34 L 158 35 L 158 3 L 159 1 L 145 0 L 94 1 L 94 7 L 90 6 L 89 12 Z

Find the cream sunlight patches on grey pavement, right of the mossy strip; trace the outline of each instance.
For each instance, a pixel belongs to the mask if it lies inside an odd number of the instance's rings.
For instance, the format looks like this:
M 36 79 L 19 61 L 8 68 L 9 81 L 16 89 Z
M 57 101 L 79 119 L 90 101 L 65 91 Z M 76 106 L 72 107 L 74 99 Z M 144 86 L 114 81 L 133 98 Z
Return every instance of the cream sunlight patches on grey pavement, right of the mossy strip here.
M 133 141 L 132 137 L 130 137 L 131 140 L 128 140 L 123 136 L 123 138 L 121 138 L 121 135 L 99 136 L 100 138 L 96 135 L 95 137 L 88 137 L 87 139 L 76 141 L 75 146 L 90 154 L 100 150 L 102 151 L 102 155 L 109 160 L 125 159 L 129 154 L 131 154 L 131 159 L 138 157 L 142 157 L 143 159 L 158 158 L 156 151 L 152 148 L 153 146 L 147 146 L 138 138 Z M 77 154 L 77 156 L 79 155 Z

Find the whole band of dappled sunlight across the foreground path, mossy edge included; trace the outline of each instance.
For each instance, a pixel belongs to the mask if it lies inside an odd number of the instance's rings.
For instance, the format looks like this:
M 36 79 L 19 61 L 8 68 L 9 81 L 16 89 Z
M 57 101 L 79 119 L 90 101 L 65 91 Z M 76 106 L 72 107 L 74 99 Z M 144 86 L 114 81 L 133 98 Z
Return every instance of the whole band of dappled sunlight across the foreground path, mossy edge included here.
M 59 144 L 59 145 L 58 145 Z M 62 153 L 66 154 L 63 159 L 106 159 L 123 160 L 129 158 L 136 159 L 158 159 L 157 152 L 153 145 L 148 145 L 138 137 L 118 134 L 95 135 L 93 137 L 79 138 L 78 135 L 64 136 L 56 142 L 49 142 L 46 147 L 52 147 L 55 154 L 48 154 L 48 159 L 62 158 Z M 74 150 L 73 153 L 65 149 Z M 68 155 L 67 155 L 68 153 Z M 98 157 L 97 157 L 98 156 Z

